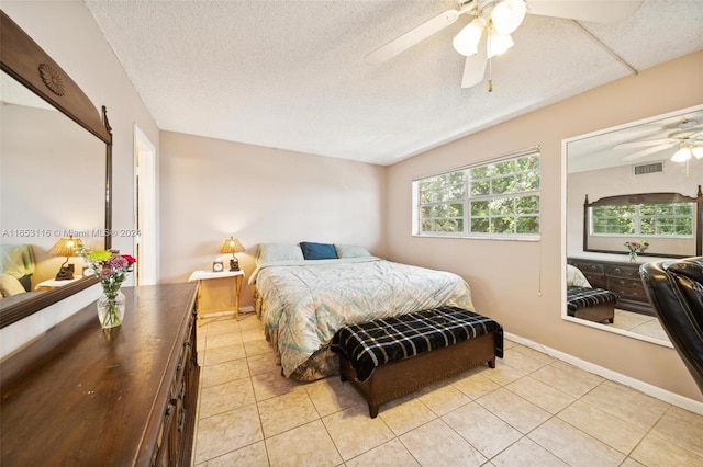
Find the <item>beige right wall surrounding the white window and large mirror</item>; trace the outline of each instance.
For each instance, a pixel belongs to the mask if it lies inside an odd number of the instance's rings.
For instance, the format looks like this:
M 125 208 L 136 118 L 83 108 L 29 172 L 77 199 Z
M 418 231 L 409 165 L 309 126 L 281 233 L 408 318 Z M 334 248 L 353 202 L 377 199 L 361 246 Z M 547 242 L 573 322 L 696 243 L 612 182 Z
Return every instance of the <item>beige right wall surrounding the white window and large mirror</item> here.
M 703 53 L 628 77 L 468 136 L 389 169 L 391 260 L 446 269 L 471 285 L 477 310 L 507 332 L 604 368 L 703 400 L 671 349 L 561 319 L 561 140 L 703 102 Z M 470 118 L 470 114 L 467 114 Z M 413 178 L 516 149 L 542 147 L 542 240 L 491 241 L 411 236 Z

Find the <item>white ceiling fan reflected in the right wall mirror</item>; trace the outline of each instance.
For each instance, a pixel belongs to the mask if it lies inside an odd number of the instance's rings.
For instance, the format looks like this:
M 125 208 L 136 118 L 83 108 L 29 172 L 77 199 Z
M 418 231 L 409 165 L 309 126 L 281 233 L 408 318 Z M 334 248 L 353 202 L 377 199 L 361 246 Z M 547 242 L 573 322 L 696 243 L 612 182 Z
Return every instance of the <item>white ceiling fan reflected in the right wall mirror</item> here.
M 685 162 L 692 157 L 703 158 L 703 122 L 683 119 L 666 138 L 622 143 L 615 149 L 644 148 L 623 158 L 634 160 L 677 147 L 679 149 L 671 156 L 673 162 Z

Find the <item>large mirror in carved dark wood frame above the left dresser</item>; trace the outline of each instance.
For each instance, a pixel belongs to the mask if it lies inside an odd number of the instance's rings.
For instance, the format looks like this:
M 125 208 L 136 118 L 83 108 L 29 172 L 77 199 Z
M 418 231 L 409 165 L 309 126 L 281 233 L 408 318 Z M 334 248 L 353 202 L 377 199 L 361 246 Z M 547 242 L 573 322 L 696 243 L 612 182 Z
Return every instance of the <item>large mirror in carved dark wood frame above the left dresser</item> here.
M 112 135 L 104 107 L 101 114 L 4 12 L 0 21 L 4 328 L 97 282 L 82 276 L 82 260 L 51 252 L 71 236 L 90 249 L 110 248 Z M 67 259 L 74 280 L 56 281 Z

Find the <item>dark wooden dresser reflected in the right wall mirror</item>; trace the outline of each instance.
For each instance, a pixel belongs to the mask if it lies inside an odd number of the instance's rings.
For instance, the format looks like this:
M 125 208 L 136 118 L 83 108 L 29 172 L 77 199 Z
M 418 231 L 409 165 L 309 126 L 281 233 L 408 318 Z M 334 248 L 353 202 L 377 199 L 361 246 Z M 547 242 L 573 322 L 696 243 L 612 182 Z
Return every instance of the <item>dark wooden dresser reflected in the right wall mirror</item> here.
M 568 258 L 567 263 L 581 270 L 593 287 L 606 288 L 620 298 L 615 308 L 655 316 L 639 276 L 639 264 Z

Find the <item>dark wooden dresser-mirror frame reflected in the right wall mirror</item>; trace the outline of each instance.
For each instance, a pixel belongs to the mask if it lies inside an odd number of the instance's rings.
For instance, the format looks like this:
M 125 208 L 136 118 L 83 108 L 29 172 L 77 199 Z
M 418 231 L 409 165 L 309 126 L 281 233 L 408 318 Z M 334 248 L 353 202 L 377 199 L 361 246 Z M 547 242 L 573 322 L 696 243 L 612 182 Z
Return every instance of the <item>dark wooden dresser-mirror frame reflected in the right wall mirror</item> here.
M 640 194 L 625 194 L 617 196 L 605 196 L 594 202 L 589 202 L 588 195 L 583 202 L 583 251 L 590 251 L 595 253 L 622 253 L 622 250 L 600 250 L 589 248 L 589 237 L 591 231 L 591 216 L 589 209 L 593 206 L 623 206 L 631 204 L 658 204 L 658 203 L 693 203 L 695 205 L 695 252 L 693 254 L 668 254 L 657 251 L 650 251 L 648 253 L 638 253 L 640 257 L 658 257 L 658 258 L 689 258 L 701 255 L 701 244 L 703 239 L 700 235 L 703 228 L 703 193 L 701 192 L 701 185 L 696 196 L 685 196 L 681 193 L 640 193 Z

